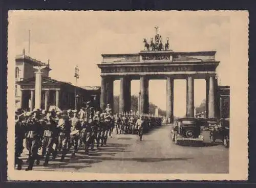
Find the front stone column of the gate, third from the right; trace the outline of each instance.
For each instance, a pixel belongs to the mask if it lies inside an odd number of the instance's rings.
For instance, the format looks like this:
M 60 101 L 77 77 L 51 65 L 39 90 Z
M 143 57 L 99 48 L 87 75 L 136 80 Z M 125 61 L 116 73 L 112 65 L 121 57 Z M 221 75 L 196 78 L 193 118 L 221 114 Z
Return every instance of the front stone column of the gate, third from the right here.
M 166 79 L 166 117 L 173 121 L 174 116 L 174 79 Z

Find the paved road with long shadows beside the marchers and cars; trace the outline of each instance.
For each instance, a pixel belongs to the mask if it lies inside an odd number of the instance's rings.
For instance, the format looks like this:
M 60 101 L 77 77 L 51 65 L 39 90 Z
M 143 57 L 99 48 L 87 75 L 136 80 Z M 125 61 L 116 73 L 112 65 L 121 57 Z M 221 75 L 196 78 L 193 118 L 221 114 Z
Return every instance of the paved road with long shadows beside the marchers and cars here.
M 175 145 L 170 138 L 171 126 L 163 125 L 143 135 L 114 135 L 108 147 L 84 156 L 78 151 L 74 159 L 68 154 L 64 162 L 50 161 L 48 167 L 33 170 L 94 173 L 228 173 L 229 149 L 211 145 L 203 131 L 205 147 Z M 26 150 L 25 150 L 25 159 Z M 26 168 L 26 165 L 23 167 Z

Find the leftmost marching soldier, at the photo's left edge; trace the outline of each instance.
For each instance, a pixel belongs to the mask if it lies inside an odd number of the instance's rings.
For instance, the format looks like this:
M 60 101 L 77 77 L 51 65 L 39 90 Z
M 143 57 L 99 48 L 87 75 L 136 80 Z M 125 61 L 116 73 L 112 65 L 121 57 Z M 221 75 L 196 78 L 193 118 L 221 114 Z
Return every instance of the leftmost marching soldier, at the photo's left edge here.
M 22 109 L 15 111 L 15 161 L 14 166 L 17 165 L 17 170 L 22 170 L 22 159 L 19 156 L 23 152 L 23 139 L 25 137 L 25 127 L 22 123 L 20 116 L 22 115 Z

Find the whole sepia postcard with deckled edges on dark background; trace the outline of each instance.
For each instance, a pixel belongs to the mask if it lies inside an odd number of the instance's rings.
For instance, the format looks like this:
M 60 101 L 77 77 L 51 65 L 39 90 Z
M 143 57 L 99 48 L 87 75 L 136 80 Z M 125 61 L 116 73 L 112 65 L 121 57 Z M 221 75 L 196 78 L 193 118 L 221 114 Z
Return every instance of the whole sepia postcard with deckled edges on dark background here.
M 9 180 L 246 180 L 247 11 L 9 11 Z

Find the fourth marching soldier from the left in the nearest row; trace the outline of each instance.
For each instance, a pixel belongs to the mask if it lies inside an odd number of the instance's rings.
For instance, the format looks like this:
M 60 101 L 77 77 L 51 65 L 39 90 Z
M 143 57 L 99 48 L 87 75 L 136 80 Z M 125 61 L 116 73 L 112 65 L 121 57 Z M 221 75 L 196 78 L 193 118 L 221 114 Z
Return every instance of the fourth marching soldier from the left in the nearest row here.
M 59 132 L 59 143 L 61 144 L 62 155 L 60 161 L 63 161 L 68 150 L 69 150 L 69 143 L 70 143 L 70 131 L 71 131 L 71 124 L 69 121 L 69 116 L 66 110 L 63 110 L 60 119 L 58 121 L 58 132 Z

